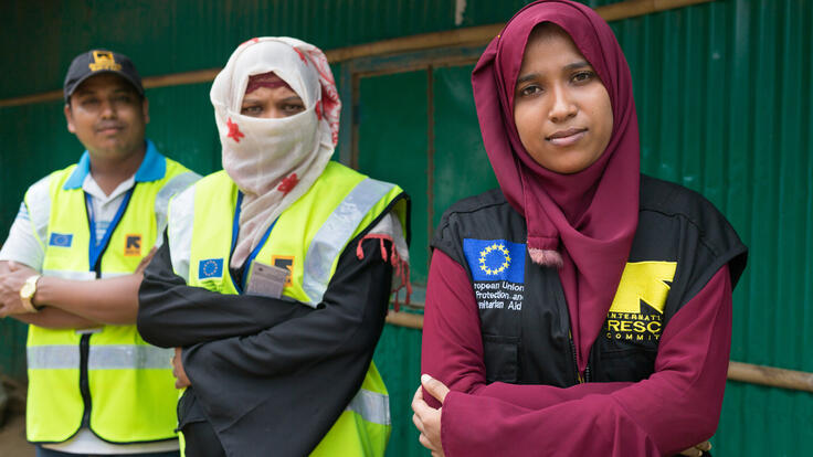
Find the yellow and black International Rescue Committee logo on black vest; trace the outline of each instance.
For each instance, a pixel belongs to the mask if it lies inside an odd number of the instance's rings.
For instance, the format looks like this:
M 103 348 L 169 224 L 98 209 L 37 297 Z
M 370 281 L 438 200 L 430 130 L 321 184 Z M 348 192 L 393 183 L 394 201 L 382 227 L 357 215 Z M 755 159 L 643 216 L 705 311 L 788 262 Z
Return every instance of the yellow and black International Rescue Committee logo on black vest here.
M 676 270 L 675 262 L 627 263 L 606 315 L 605 337 L 626 342 L 659 340 Z

